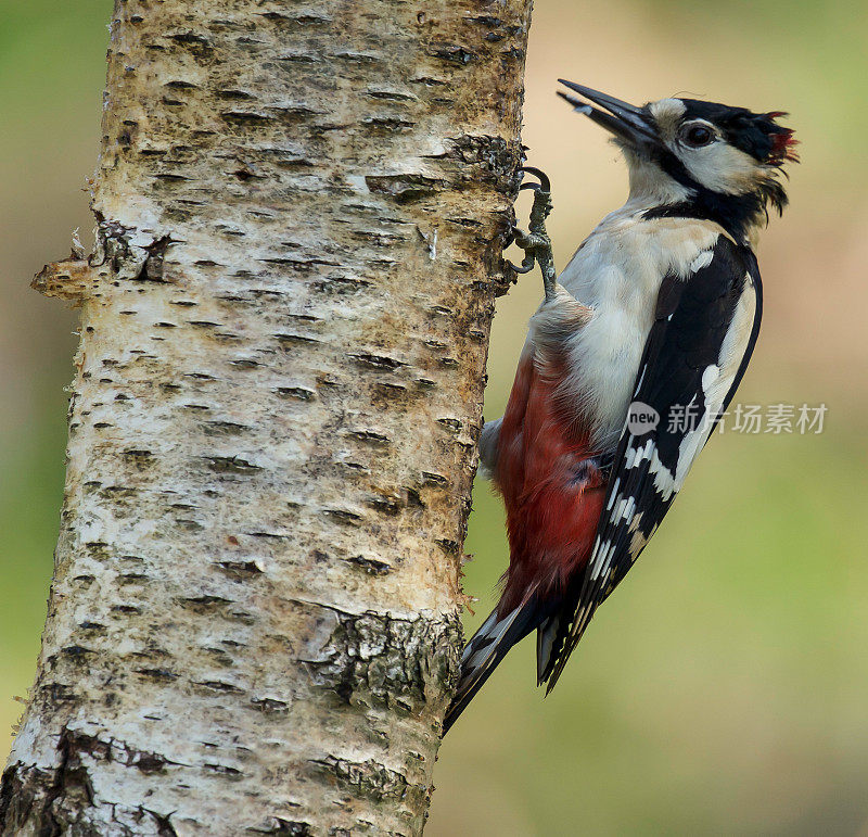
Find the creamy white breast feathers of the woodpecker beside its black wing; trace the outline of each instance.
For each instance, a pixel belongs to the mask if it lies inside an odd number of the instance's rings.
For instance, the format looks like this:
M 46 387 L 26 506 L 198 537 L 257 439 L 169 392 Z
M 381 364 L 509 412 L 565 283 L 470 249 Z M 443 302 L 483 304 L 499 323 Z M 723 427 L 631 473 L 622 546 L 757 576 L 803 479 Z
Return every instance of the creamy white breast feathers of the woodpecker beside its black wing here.
M 563 394 L 596 428 L 598 449 L 614 446 L 623 429 L 663 277 L 687 276 L 722 232 L 711 221 L 638 219 L 627 203 L 603 219 L 561 274 L 559 282 L 593 309 L 569 337 Z

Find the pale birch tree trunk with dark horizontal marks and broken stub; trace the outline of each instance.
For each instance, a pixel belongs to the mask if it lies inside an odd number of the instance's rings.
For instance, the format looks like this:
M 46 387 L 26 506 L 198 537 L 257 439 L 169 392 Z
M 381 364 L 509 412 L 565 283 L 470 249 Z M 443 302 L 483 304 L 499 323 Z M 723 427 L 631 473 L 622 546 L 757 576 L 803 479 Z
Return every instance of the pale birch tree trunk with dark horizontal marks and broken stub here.
M 5 835 L 418 834 L 529 0 L 116 0 Z

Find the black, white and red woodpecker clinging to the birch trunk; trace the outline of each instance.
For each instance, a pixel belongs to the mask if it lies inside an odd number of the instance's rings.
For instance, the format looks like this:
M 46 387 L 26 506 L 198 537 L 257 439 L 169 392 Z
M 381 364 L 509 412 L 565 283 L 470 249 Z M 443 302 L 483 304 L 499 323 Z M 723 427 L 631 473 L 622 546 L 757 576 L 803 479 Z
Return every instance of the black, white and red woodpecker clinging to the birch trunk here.
M 464 648 L 444 732 L 515 643 L 537 632 L 548 695 L 599 605 L 656 531 L 741 382 L 760 330 L 754 248 L 797 160 L 783 112 L 695 99 L 637 107 L 560 79 L 612 134 L 627 202 L 556 278 L 538 169 L 520 272 L 542 269 L 502 418 L 480 453 L 507 510 L 502 595 Z M 690 420 L 684 420 L 689 416 Z

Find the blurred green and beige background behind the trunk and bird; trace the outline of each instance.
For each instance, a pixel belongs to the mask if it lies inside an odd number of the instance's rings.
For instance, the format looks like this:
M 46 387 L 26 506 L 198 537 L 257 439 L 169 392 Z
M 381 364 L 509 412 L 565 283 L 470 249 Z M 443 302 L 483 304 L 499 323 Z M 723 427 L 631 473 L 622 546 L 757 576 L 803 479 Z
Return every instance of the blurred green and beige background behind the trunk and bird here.
M 28 281 L 76 227 L 90 240 L 111 5 L 0 2 L 0 753 L 39 646 L 75 342 L 74 313 Z M 554 182 L 560 265 L 626 177 L 558 76 L 792 112 L 803 165 L 761 248 L 739 400 L 829 413 L 821 435 L 715 439 L 551 697 L 533 643 L 510 655 L 441 750 L 429 835 L 868 835 L 866 36 L 868 8 L 843 1 L 537 0 L 524 141 Z M 539 292 L 525 277 L 499 302 L 488 417 Z M 507 559 L 485 483 L 474 508 L 469 630 Z

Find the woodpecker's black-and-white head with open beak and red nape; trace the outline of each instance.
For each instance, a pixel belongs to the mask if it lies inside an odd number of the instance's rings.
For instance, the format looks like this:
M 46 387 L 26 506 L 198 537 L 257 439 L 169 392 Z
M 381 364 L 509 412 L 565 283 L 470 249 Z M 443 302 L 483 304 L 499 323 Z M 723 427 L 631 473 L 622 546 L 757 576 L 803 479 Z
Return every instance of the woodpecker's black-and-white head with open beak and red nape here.
M 624 150 L 633 196 L 661 213 L 685 206 L 740 238 L 787 205 L 783 164 L 796 162 L 793 131 L 782 112 L 753 113 L 698 99 L 661 99 L 642 107 L 572 81 L 559 91 L 573 107 L 607 128 Z M 596 107 L 593 105 L 597 105 Z

